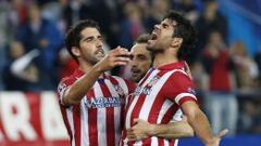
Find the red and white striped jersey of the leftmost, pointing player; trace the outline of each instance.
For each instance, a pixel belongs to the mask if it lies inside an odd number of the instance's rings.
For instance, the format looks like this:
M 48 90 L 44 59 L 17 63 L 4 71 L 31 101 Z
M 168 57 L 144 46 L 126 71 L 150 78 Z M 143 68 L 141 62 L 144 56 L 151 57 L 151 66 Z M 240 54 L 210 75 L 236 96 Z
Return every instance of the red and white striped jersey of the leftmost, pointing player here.
M 117 146 L 123 128 L 124 99 L 134 83 L 103 74 L 79 104 L 61 105 L 66 89 L 84 72 L 76 70 L 64 78 L 58 88 L 60 107 L 72 146 Z

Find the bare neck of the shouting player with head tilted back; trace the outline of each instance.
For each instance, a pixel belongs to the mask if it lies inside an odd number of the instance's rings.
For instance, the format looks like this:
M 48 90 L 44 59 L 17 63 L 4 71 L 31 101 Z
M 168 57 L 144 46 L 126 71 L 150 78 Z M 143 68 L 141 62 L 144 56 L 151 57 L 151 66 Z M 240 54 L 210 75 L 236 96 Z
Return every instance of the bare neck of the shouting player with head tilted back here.
M 178 62 L 177 57 L 172 53 L 157 53 L 154 55 L 153 67 L 158 68 L 160 66 Z

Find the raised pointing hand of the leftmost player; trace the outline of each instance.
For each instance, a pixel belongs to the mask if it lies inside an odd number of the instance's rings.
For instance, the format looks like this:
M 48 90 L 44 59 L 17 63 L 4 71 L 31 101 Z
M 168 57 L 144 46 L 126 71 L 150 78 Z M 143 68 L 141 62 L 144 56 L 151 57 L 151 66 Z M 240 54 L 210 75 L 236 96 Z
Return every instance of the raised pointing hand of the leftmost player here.
M 127 65 L 129 59 L 129 52 L 127 49 L 117 47 L 116 49 L 109 52 L 98 64 L 99 70 L 107 71 L 115 66 Z

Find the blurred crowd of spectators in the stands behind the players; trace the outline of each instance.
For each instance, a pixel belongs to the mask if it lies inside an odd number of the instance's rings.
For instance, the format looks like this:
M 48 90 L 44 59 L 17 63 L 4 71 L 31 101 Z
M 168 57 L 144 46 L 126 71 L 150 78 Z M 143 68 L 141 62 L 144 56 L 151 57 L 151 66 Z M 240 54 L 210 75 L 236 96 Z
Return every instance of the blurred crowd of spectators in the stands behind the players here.
M 99 23 L 107 51 L 130 49 L 169 10 L 197 29 L 188 63 L 214 132 L 261 133 L 261 53 L 249 55 L 243 40 L 228 45 L 227 19 L 215 0 L 0 0 L 0 91 L 55 91 L 77 67 L 63 38 L 80 19 Z M 111 74 L 129 78 L 124 70 Z

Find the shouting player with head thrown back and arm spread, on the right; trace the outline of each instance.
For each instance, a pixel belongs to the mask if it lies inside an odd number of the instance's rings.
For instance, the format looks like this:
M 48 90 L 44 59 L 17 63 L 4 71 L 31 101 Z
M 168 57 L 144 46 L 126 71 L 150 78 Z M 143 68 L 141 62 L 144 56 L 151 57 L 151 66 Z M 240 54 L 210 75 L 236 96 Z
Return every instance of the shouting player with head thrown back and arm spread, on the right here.
M 170 12 L 154 26 L 148 50 L 154 55 L 153 67 L 139 81 L 126 105 L 122 145 L 177 145 L 177 141 L 163 137 L 140 140 L 140 129 L 133 129 L 137 118 L 153 124 L 164 124 L 182 108 L 189 124 L 206 146 L 217 146 L 227 130 L 212 134 L 209 121 L 197 104 L 194 84 L 184 70 L 186 55 L 194 49 L 195 30 L 182 15 Z

